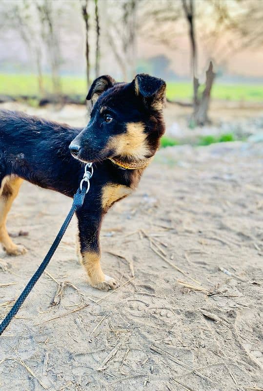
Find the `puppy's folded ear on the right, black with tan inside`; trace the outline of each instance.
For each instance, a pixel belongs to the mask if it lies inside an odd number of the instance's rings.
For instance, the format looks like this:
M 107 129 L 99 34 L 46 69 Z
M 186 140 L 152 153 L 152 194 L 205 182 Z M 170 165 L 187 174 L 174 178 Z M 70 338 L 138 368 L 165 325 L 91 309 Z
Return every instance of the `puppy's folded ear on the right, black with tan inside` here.
M 142 96 L 145 104 L 155 110 L 162 110 L 166 84 L 162 79 L 141 73 L 133 81 L 135 93 Z

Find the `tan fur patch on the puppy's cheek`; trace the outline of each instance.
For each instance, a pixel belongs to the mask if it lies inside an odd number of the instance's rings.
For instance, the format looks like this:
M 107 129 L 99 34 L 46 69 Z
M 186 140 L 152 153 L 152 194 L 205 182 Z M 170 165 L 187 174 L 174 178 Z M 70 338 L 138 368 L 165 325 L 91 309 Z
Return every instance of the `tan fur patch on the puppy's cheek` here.
M 125 133 L 111 138 L 107 149 L 114 149 L 116 155 L 140 160 L 149 154 L 146 137 L 142 122 L 130 122 L 126 125 Z

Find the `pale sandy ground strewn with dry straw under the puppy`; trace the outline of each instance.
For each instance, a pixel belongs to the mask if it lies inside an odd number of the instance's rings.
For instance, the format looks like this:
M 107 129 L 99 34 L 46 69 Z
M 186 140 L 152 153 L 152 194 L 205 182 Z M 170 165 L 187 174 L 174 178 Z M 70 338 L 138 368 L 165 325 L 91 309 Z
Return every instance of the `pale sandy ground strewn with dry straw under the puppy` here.
M 104 220 L 110 295 L 86 282 L 74 220 L 0 337 L 0 390 L 262 390 L 262 173 L 260 143 L 159 152 Z M 0 250 L 1 318 L 70 204 L 22 185 L 8 228 L 28 253 Z

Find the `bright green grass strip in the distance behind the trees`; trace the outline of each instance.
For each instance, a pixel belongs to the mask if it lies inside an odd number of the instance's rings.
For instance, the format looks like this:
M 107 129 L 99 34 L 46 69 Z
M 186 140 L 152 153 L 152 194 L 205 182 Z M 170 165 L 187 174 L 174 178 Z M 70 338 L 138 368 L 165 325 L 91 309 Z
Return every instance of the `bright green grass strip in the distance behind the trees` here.
M 52 92 L 50 76 L 44 76 L 44 88 L 47 93 Z M 63 76 L 61 77 L 62 92 L 67 95 L 85 95 L 87 93 L 84 77 Z M 36 75 L 1 74 L 0 94 L 11 96 L 38 95 L 38 80 Z M 167 97 L 174 100 L 190 100 L 192 97 L 192 85 L 187 82 L 170 82 L 167 84 Z M 263 85 L 238 85 L 216 83 L 212 90 L 214 99 L 228 101 L 263 101 Z

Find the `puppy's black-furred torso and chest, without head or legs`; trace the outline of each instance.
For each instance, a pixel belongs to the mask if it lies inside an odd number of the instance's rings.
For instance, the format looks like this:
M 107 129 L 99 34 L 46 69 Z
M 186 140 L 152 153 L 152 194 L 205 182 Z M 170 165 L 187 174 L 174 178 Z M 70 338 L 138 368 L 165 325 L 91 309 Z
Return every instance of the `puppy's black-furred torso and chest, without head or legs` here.
M 81 129 L 28 116 L 0 111 L 0 181 L 18 176 L 42 188 L 73 197 L 84 164 L 73 159 L 69 145 Z M 108 159 L 95 164 L 93 186 L 87 196 L 101 194 L 108 183 L 133 187 L 133 170 L 120 170 Z

